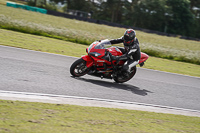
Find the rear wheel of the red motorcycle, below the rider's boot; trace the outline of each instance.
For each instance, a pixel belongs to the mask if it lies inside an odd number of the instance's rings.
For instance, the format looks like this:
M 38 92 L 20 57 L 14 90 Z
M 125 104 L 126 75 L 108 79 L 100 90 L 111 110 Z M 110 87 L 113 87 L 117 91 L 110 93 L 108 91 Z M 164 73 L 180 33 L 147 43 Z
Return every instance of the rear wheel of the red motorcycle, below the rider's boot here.
M 131 72 L 123 72 L 119 75 L 117 75 L 117 77 L 114 78 L 115 82 L 117 83 L 123 83 L 123 82 L 127 82 L 128 80 L 130 80 L 136 73 L 136 66 L 131 68 Z

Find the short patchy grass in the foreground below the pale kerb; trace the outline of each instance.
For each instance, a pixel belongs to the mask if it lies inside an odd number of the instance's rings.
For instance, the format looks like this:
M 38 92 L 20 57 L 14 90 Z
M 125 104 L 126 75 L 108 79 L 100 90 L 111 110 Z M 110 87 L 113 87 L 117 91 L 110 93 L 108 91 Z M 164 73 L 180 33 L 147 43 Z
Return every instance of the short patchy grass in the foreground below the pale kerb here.
M 199 133 L 200 117 L 0 100 L 1 133 Z

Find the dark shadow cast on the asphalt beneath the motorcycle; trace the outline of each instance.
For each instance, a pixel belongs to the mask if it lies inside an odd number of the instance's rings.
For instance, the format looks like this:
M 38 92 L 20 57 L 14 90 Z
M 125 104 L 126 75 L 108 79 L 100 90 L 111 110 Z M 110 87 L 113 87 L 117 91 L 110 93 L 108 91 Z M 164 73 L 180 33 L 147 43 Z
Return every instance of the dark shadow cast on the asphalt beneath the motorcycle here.
M 75 78 L 73 76 L 71 76 L 71 77 Z M 141 95 L 141 96 L 146 96 L 146 95 L 148 95 L 148 93 L 153 93 L 151 91 L 148 91 L 148 90 L 145 90 L 145 89 L 140 89 L 139 87 L 129 85 L 129 84 L 125 84 L 125 83 L 119 84 L 119 83 L 115 83 L 115 82 L 113 83 L 113 82 L 108 82 L 108 81 L 103 81 L 103 80 L 85 79 L 85 78 L 82 78 L 82 77 L 76 77 L 75 79 L 90 82 L 92 84 L 104 86 L 104 87 L 107 87 L 107 88 L 122 89 L 122 90 L 131 91 L 132 93 L 137 94 L 137 95 Z

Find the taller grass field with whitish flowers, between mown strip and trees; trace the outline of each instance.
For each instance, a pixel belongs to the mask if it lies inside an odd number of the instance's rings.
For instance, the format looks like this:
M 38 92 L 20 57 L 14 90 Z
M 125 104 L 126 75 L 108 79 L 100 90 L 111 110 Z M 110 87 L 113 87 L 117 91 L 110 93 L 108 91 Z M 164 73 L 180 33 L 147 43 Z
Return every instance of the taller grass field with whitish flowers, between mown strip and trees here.
M 17 14 L 17 15 L 16 15 Z M 124 28 L 98 25 L 0 5 L 0 27 L 71 42 L 121 37 Z M 137 32 L 142 51 L 149 55 L 200 64 L 200 42 Z

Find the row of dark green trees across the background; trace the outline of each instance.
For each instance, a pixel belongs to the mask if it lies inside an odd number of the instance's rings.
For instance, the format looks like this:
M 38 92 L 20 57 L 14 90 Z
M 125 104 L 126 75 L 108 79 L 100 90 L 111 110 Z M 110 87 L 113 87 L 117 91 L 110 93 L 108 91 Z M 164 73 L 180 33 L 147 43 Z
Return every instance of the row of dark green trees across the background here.
M 63 10 L 89 12 L 93 19 L 200 38 L 200 0 L 50 0 L 50 2 L 65 4 Z

